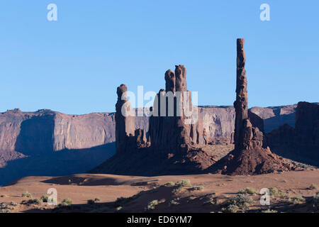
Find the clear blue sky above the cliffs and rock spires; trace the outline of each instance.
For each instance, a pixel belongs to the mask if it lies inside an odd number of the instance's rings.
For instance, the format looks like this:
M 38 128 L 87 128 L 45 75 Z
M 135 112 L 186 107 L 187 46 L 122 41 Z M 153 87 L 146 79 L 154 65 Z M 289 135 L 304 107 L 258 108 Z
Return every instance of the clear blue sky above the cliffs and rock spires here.
M 0 111 L 114 111 L 118 85 L 158 92 L 177 64 L 200 105 L 232 105 L 236 38 L 250 107 L 319 101 L 318 2 L 2 0 Z

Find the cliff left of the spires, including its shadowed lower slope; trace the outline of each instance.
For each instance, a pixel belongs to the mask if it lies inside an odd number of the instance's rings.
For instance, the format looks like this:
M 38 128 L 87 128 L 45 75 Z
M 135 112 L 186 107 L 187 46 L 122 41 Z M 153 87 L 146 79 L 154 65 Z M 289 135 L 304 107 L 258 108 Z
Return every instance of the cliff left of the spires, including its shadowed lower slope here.
M 0 114 L 0 185 L 29 175 L 86 172 L 115 153 L 113 114 Z

